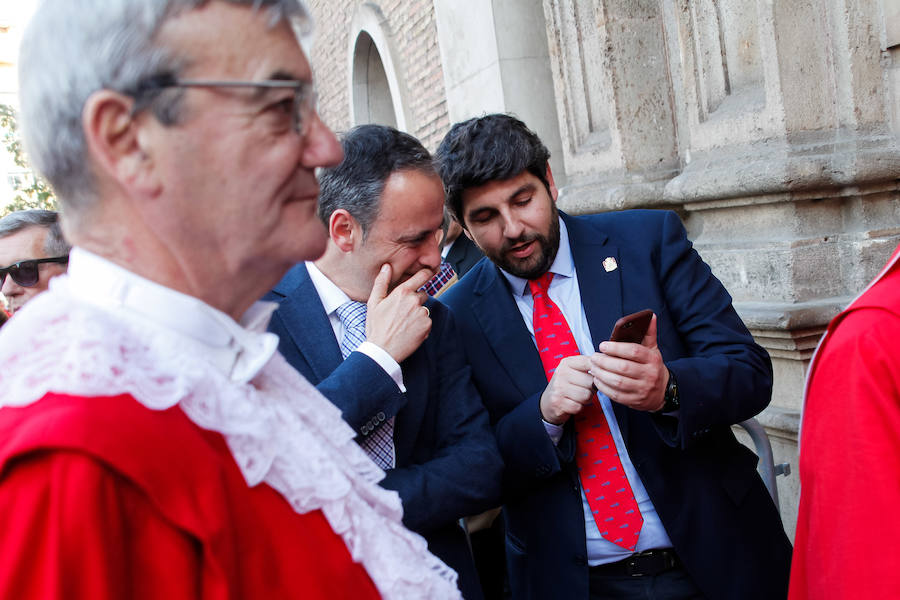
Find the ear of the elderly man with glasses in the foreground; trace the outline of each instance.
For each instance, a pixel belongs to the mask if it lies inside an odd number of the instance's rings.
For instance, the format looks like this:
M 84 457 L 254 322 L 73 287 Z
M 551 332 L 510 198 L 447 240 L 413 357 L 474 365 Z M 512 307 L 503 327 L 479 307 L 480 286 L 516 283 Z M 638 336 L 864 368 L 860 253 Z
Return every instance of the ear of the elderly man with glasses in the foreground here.
M 133 115 L 133 106 L 134 99 L 112 90 L 88 97 L 81 115 L 88 154 L 98 175 L 140 195 L 155 195 L 160 182 L 146 148 L 148 118 Z

